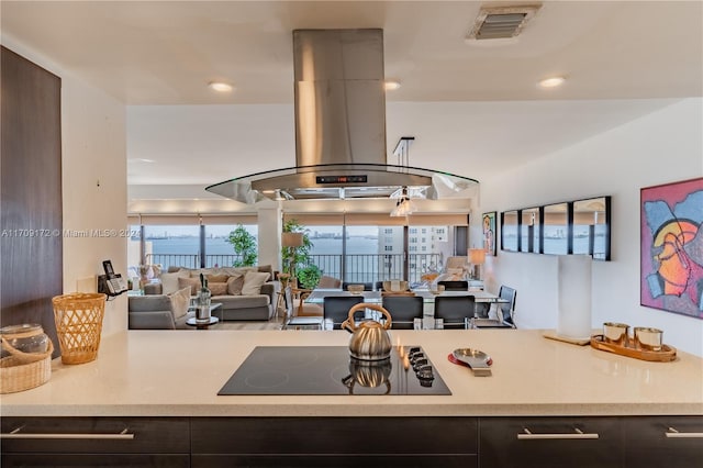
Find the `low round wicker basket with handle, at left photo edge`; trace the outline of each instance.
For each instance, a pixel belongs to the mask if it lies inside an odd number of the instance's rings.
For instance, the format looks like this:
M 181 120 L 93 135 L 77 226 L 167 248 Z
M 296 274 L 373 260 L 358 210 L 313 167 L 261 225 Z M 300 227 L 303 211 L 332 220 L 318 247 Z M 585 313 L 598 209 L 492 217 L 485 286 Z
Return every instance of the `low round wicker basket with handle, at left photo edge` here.
M 22 353 L 2 338 L 2 348 L 10 356 L 0 359 L 0 393 L 14 393 L 46 383 L 52 377 L 52 353 L 54 345 L 48 342 L 45 353 Z

